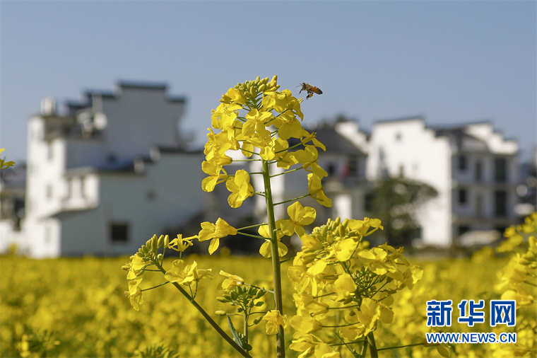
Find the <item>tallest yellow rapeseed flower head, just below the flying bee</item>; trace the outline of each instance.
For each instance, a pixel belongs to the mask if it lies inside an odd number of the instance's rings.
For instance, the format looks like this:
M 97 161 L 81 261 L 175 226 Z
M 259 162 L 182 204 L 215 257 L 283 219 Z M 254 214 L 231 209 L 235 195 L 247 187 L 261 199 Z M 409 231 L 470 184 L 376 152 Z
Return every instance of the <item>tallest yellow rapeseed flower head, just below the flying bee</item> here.
M 225 170 L 233 162 L 229 151 L 242 151 L 247 158 L 271 161 L 278 168 L 300 164 L 312 173 L 311 178 L 308 176 L 310 195 L 330 207 L 331 201 L 320 185 L 321 178 L 328 174 L 317 163 L 317 148 L 326 147 L 302 127 L 302 99 L 295 98 L 289 90 L 277 91 L 277 79 L 258 77 L 237 84 L 222 96 L 211 115 L 212 128 L 208 128 L 203 150 L 206 158 L 202 163 L 203 172 L 209 176 L 203 179 L 201 187 L 211 192 L 217 184 L 225 182 L 231 192 L 230 207 L 240 207 L 247 197 L 254 195 L 247 171 L 228 174 Z M 304 148 L 289 151 L 290 138 L 300 139 Z

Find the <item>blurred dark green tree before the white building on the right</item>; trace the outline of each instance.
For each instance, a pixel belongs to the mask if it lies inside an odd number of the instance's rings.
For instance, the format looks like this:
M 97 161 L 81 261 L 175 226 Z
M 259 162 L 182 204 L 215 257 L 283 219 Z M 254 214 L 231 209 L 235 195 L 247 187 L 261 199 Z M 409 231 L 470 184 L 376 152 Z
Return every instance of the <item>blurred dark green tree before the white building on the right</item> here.
M 385 178 L 374 185 L 367 209 L 372 217 L 382 220 L 391 246 L 407 246 L 420 233 L 418 207 L 437 195 L 434 187 L 417 180 Z

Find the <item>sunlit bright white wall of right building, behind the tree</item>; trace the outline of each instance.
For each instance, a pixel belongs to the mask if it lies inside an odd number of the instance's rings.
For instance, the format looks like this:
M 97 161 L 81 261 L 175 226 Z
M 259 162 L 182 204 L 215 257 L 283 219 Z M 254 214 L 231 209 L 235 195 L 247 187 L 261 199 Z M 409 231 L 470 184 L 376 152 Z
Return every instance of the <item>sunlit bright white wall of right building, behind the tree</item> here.
M 378 122 L 372 129 L 367 178 L 382 178 L 382 170 L 392 177 L 419 180 L 435 187 L 438 196 L 418 209 L 426 245 L 447 246 L 451 243 L 451 152 L 449 141 L 435 137 L 421 119 Z M 382 218 L 381 218 L 382 219 Z

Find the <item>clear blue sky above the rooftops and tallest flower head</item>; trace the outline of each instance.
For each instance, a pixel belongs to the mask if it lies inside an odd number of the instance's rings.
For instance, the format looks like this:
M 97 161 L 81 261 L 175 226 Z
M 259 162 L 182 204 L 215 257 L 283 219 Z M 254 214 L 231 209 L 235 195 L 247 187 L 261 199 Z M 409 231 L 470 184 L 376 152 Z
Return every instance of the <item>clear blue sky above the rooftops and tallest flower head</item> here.
M 274 74 L 295 94 L 322 89 L 302 105 L 307 122 L 490 120 L 523 158 L 536 144 L 534 1 L 0 1 L 0 24 L 9 159 L 25 158 L 28 117 L 47 96 L 166 82 L 203 144 L 229 87 Z

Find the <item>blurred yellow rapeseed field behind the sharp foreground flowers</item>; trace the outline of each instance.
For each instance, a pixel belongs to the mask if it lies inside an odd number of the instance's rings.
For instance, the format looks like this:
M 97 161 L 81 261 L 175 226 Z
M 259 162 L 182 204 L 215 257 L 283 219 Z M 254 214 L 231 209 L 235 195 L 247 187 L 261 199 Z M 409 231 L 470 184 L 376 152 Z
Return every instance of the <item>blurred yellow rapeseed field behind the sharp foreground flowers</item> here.
M 200 267 L 213 267 L 213 272 L 224 270 L 241 275 L 247 282 L 260 287 L 271 287 L 271 265 L 263 258 L 196 257 Z M 124 295 L 126 272 L 120 270 L 128 258 L 62 258 L 57 260 L 29 260 L 14 256 L 0 258 L 0 350 L 1 357 L 131 357 L 166 353 L 178 357 L 235 357 L 221 337 L 203 320 L 183 296 L 171 285 L 145 291 L 140 311 L 135 311 Z M 165 265 L 171 265 L 171 259 Z M 415 261 L 415 260 L 411 260 Z M 500 299 L 495 284 L 508 262 L 507 258 L 494 258 L 491 251 L 483 251 L 467 260 L 439 260 L 413 262 L 423 267 L 423 279 L 414 289 L 404 289 L 396 297 L 394 323 L 379 324 L 375 333 L 379 357 L 440 357 L 435 347 L 382 350 L 386 345 L 421 343 L 427 332 L 425 302 L 431 299 L 454 301 L 454 324 L 444 331 L 491 332 L 488 324 L 467 325 L 456 323 L 461 299 Z M 287 270 L 284 265 L 284 272 Z M 144 275 L 146 287 L 163 282 L 162 275 Z M 284 275 L 283 292 L 291 292 L 291 283 Z M 216 301 L 222 296 L 217 285 L 223 277 L 215 275 L 200 288 L 196 301 L 213 313 L 228 307 Z M 266 281 L 263 281 L 266 280 Z M 535 292 L 532 292 L 535 295 Z M 270 299 L 269 295 L 264 299 Z M 284 299 L 285 313 L 293 315 L 295 306 L 291 297 Z M 264 310 L 273 304 L 264 305 Z M 486 313 L 485 313 L 486 314 Z M 536 350 L 536 305 L 517 311 L 517 346 L 528 347 L 532 352 L 519 350 L 531 357 Z M 228 330 L 225 318 L 214 315 L 216 321 Z M 488 319 L 488 318 L 487 318 Z M 239 321 L 237 321 L 238 324 Z M 488 321 L 485 321 L 488 322 Z M 532 327 L 533 325 L 533 327 Z M 286 333 L 290 340 L 292 331 Z M 256 326 L 251 345 L 263 357 L 273 357 L 274 337 L 267 336 L 264 324 Z M 160 350 L 159 350 L 159 346 Z M 453 357 L 510 357 L 514 345 L 461 344 L 449 348 Z M 509 347 L 507 347 L 509 346 Z M 153 350 L 148 350 L 148 348 Z M 501 350 L 509 348 L 507 351 Z M 172 351 L 172 352 L 170 352 Z M 288 351 L 290 355 L 297 354 Z M 342 354 L 347 354 L 348 352 Z

